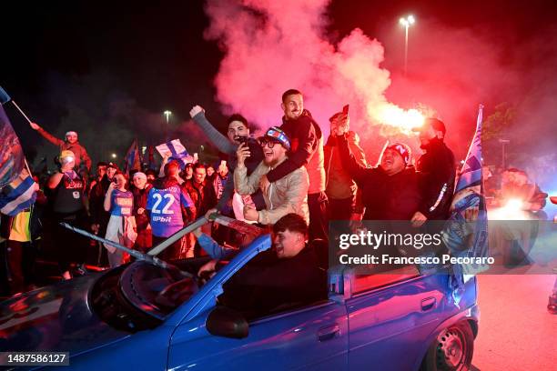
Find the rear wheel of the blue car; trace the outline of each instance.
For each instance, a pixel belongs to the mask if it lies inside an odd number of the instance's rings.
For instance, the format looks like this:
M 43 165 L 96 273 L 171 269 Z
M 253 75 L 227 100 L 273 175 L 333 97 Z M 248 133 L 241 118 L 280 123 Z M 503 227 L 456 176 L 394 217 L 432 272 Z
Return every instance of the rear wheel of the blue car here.
M 420 371 L 469 370 L 474 354 L 474 335 L 468 322 L 445 328 L 435 338 L 421 362 Z

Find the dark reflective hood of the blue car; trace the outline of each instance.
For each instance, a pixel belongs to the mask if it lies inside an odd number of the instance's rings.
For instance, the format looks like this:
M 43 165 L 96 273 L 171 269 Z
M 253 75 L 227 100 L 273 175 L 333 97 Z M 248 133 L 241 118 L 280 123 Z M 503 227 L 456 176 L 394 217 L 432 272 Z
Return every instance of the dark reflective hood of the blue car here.
M 99 276 L 102 273 L 79 277 L 0 303 L 0 349 L 75 356 L 129 336 L 92 312 L 88 297 Z

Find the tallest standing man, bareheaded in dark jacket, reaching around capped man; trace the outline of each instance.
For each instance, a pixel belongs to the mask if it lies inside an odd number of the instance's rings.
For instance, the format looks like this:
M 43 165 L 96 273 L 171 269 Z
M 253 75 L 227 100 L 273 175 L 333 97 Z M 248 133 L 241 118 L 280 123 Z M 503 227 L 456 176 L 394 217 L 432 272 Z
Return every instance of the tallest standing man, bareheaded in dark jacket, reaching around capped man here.
M 270 184 L 279 181 L 300 167 L 309 175 L 309 238 L 328 240 L 329 200 L 325 194 L 325 167 L 323 135 L 319 125 L 304 109 L 304 98 L 299 90 L 289 89 L 282 95 L 280 105 L 284 112 L 280 129 L 289 137 L 289 158 L 261 177 L 261 189 L 265 192 Z

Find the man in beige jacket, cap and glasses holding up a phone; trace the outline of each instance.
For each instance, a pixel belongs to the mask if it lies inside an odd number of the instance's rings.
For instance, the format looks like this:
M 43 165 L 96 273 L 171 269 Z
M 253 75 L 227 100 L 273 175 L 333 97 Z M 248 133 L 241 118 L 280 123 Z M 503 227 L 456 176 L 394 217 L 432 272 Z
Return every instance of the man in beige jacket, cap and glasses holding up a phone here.
M 259 138 L 259 143 L 265 157 L 251 175 L 248 175 L 245 165 L 246 158 L 251 155 L 251 152 L 247 145 L 238 146 L 236 153 L 238 165 L 234 171 L 234 187 L 239 195 L 253 194 L 258 189 L 261 178 L 288 159 L 289 137 L 279 127 L 269 128 L 267 133 Z M 244 208 L 244 217 L 246 220 L 257 221 L 263 225 L 273 225 L 282 216 L 295 213 L 302 216 L 307 222 L 309 219 L 308 189 L 308 171 L 301 166 L 263 189 L 267 208 L 257 210 L 255 207 L 247 205 Z

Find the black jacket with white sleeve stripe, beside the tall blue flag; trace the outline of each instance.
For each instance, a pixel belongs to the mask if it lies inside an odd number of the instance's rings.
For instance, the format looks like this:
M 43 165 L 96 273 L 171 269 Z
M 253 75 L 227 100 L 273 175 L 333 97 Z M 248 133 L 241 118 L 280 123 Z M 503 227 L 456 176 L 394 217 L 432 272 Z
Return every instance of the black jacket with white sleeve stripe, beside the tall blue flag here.
M 431 139 L 420 156 L 417 170 L 423 199 L 420 212 L 429 220 L 446 220 L 449 217 L 456 166 L 451 149 L 441 139 Z

